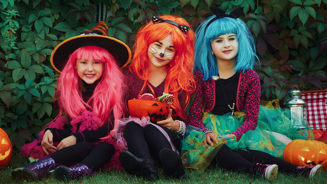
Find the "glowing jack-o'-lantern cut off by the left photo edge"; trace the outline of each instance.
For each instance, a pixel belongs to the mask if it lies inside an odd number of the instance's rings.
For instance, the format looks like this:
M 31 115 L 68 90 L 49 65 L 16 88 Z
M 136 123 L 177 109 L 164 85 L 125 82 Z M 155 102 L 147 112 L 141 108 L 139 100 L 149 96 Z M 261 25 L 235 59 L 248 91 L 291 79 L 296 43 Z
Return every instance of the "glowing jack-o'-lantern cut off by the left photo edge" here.
M 0 128 L 0 167 L 8 165 L 12 157 L 12 146 L 7 133 Z

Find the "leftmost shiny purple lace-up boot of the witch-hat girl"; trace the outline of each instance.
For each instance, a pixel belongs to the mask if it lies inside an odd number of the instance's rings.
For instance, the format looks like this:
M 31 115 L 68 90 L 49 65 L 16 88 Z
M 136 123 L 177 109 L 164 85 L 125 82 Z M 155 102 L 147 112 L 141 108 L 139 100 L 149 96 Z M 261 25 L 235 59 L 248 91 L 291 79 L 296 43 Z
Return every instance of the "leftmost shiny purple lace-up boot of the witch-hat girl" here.
M 55 164 L 55 161 L 50 156 L 45 156 L 42 159 L 33 161 L 26 166 L 19 167 L 11 171 L 13 178 L 18 178 L 28 181 L 32 180 L 41 180 L 44 178 L 45 174 L 55 169 L 58 164 Z

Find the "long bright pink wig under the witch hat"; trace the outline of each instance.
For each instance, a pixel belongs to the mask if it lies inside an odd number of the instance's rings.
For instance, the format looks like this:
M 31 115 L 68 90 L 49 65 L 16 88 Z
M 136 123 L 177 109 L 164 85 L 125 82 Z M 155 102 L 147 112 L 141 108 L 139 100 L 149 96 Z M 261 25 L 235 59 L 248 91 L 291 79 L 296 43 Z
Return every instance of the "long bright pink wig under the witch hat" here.
M 84 53 L 84 58 L 82 55 Z M 102 62 L 103 72 L 98 85 L 85 103 L 80 94 L 81 79 L 77 74 L 76 60 L 88 60 L 91 57 L 95 61 Z M 63 68 L 58 79 L 58 89 L 55 98 L 59 100 L 59 115 L 65 112 L 68 117 L 77 118 L 85 110 L 93 111 L 102 124 L 110 119 L 120 119 L 126 110 L 123 102 L 126 85 L 124 77 L 112 54 L 106 49 L 97 46 L 85 46 L 75 50 Z M 112 112 L 113 116 L 112 117 Z M 113 124 L 113 122 L 111 122 Z M 99 126 L 101 126 L 99 125 Z

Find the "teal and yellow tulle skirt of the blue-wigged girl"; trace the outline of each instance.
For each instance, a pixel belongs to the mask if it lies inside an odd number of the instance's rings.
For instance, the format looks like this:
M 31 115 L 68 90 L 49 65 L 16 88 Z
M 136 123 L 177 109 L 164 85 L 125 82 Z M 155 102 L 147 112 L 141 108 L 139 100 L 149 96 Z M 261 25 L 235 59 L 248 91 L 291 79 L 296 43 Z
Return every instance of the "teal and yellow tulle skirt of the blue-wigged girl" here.
M 300 129 L 292 123 L 288 109 L 276 108 L 273 103 L 278 105 L 278 101 L 272 101 L 265 106 L 260 106 L 258 125 L 255 130 L 243 134 L 240 140 L 228 142 L 227 146 L 235 151 L 246 150 L 245 148 L 249 147 L 282 158 L 285 146 L 292 140 L 312 139 L 313 133 L 306 121 L 304 122 L 307 128 Z M 245 117 L 244 112 L 234 112 L 233 115 L 227 113 L 222 116 L 204 112 L 202 122 L 206 128 L 220 136 L 235 131 L 242 125 Z M 207 146 L 203 144 L 204 139 L 205 134 L 199 128 L 187 126 L 182 144 L 182 159 L 185 167 L 205 169 L 225 142 L 225 139 L 218 138 L 218 144 L 213 142 L 214 146 Z

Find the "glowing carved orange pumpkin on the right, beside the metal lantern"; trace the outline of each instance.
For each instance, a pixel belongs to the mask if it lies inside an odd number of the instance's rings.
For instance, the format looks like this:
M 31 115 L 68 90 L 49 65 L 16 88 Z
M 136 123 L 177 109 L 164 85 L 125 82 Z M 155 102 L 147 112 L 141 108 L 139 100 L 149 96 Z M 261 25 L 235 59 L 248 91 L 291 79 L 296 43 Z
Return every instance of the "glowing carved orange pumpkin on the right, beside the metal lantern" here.
M 298 166 L 321 164 L 327 169 L 327 145 L 319 141 L 296 139 L 284 149 L 283 159 Z

